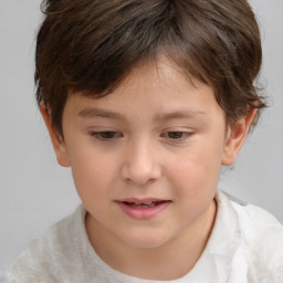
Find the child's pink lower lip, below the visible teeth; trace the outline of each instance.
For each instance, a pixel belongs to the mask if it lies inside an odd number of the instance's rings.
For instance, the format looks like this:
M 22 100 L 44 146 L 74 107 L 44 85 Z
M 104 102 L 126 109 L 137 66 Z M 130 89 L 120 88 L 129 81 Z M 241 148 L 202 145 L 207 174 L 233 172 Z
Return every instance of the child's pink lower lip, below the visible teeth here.
M 146 208 L 146 207 L 136 208 L 136 207 L 128 206 L 120 201 L 117 201 L 117 205 L 130 218 L 134 218 L 137 220 L 148 220 L 148 219 L 156 217 L 163 210 L 165 210 L 170 205 L 170 201 L 164 201 L 157 206 L 148 207 L 148 208 Z

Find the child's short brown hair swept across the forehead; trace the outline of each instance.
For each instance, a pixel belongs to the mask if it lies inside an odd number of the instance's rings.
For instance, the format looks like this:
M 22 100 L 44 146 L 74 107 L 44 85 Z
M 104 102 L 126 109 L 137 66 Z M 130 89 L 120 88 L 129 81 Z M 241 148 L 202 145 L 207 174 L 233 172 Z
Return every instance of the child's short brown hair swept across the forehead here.
M 45 0 L 42 9 L 36 99 L 61 134 L 70 91 L 107 95 L 160 53 L 211 85 L 230 123 L 265 107 L 253 84 L 260 32 L 245 0 Z

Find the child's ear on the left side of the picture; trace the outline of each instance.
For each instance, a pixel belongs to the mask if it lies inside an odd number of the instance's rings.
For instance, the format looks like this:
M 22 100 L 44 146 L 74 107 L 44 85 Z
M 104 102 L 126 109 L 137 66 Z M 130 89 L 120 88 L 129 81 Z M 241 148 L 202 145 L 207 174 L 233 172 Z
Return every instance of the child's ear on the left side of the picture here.
M 54 151 L 56 154 L 57 163 L 63 167 L 69 167 L 70 161 L 69 161 L 69 156 L 67 156 L 67 150 L 66 150 L 64 139 L 59 134 L 57 129 L 53 126 L 52 118 L 48 107 L 44 104 L 41 104 L 40 112 L 48 127 L 49 135 L 52 142 Z

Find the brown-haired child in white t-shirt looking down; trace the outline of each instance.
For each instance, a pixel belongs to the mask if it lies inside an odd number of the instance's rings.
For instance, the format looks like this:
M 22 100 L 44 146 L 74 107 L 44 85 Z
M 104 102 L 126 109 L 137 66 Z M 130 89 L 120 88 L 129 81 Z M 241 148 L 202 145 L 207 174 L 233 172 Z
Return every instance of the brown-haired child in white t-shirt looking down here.
M 49 0 L 36 98 L 82 205 L 11 282 L 283 282 L 283 228 L 217 191 L 256 124 L 245 0 Z

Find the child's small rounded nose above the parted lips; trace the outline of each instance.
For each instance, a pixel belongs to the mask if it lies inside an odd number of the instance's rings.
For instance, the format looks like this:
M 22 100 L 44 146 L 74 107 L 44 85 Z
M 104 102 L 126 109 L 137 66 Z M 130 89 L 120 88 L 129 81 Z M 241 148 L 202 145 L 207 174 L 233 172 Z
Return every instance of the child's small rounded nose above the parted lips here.
M 137 186 L 145 186 L 161 177 L 158 150 L 149 143 L 128 146 L 124 155 L 123 179 Z

